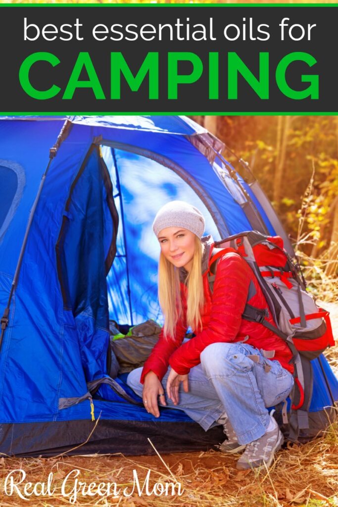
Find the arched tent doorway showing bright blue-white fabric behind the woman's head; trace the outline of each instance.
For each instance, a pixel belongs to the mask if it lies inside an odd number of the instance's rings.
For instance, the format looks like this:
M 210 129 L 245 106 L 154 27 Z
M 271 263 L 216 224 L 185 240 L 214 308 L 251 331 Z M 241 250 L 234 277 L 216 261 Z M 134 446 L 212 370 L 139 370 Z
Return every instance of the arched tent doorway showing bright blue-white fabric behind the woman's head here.
M 160 247 L 152 229 L 157 211 L 170 200 L 189 202 L 201 209 L 205 234 L 215 240 L 223 223 L 215 220 L 216 204 L 207 192 L 200 193 L 192 176 L 156 153 L 133 148 L 113 142 L 101 146 L 120 218 L 117 252 L 107 275 L 109 318 L 125 325 L 149 318 L 162 323 L 157 295 Z

